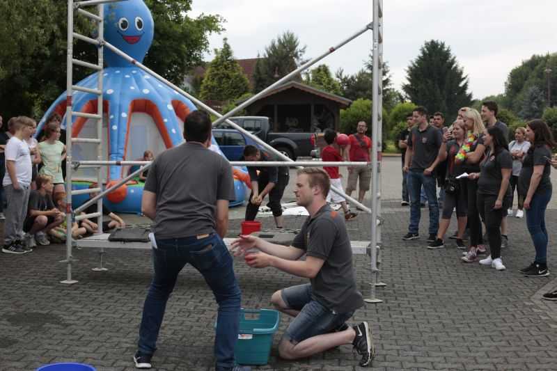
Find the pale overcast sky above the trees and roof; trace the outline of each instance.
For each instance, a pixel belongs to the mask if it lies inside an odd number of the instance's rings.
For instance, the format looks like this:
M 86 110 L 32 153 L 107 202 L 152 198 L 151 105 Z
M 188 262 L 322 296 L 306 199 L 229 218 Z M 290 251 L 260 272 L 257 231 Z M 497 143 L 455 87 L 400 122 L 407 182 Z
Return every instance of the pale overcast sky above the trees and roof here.
M 305 58 L 322 54 L 371 20 L 371 0 L 194 0 L 191 16 L 219 14 L 226 31 L 212 35 L 211 49 L 228 38 L 236 58 L 254 58 L 272 38 L 290 30 Z M 384 0 L 384 57 L 395 88 L 425 40 L 446 42 L 469 76 L 473 97 L 503 93 L 512 68 L 532 54 L 557 52 L 556 0 Z M 363 67 L 372 42 L 364 33 L 322 60 L 332 72 Z M 207 55 L 207 60 L 212 54 Z

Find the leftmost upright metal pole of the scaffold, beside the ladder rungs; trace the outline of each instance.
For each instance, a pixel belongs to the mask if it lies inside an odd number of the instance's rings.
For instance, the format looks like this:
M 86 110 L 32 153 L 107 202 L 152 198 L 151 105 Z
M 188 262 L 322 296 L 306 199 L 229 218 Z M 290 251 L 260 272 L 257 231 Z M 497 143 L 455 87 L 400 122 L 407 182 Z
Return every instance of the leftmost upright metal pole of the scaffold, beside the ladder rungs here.
M 65 174 L 69 182 L 65 182 L 66 194 L 66 207 L 65 207 L 65 222 L 66 222 L 66 235 L 70 238 L 65 240 L 65 261 L 67 262 L 66 279 L 60 281 L 71 285 L 77 283 L 72 279 L 72 85 L 73 85 L 73 31 L 74 31 L 74 1 L 68 0 L 68 56 L 66 59 L 66 109 L 65 109 L 65 145 L 66 145 L 66 163 Z

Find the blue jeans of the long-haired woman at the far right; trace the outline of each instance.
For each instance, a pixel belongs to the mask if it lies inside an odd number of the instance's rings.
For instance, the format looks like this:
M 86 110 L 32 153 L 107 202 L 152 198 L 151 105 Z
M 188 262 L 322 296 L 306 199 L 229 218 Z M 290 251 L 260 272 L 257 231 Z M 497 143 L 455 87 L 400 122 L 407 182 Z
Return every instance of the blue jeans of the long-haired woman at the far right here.
M 526 210 L 526 226 L 535 248 L 535 262 L 547 264 L 547 243 L 549 237 L 545 228 L 545 210 L 551 200 L 551 189 L 536 192 L 532 197 L 530 209 Z

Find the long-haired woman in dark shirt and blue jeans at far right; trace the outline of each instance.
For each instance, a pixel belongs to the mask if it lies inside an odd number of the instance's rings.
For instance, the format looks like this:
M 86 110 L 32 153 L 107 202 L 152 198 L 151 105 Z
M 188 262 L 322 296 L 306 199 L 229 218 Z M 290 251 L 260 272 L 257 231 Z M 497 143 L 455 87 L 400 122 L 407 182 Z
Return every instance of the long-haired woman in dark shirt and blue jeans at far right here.
M 526 225 L 535 248 L 535 260 L 523 269 L 527 277 L 549 276 L 547 269 L 548 235 L 545 227 L 545 210 L 553 188 L 551 186 L 551 148 L 555 142 L 543 120 L 533 120 L 526 125 L 526 136 L 532 145 L 526 152 L 519 175 L 519 194 L 524 196 Z

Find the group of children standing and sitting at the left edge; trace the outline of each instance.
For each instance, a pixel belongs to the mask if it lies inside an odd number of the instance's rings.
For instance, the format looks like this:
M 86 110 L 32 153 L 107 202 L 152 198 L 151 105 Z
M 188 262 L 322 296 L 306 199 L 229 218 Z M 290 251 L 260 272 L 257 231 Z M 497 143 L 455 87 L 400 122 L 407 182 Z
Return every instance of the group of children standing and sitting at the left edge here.
M 6 131 L 0 132 L 0 153 L 3 157 L 0 166 L 0 219 L 5 219 L 3 253 L 29 253 L 37 245 L 46 246 L 51 240 L 65 240 L 63 167 L 66 150 L 61 141 L 65 138 L 61 137 L 60 123 L 61 116 L 53 113 L 45 123 L 40 141 L 35 138 L 36 121 L 26 116 L 10 118 Z M 2 124 L 0 116 L 0 127 Z M 123 226 L 118 216 L 110 215 L 112 227 Z M 84 219 L 79 225 L 74 223 L 72 235 L 80 238 L 97 228 L 94 219 Z

